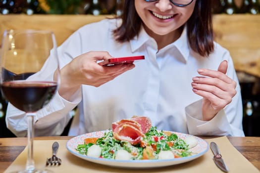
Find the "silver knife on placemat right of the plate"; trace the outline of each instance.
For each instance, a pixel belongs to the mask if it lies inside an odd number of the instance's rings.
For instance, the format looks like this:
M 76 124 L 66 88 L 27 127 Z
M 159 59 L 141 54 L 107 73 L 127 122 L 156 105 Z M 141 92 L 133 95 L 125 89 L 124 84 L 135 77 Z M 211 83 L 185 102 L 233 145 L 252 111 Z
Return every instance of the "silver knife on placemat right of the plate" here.
M 216 166 L 223 172 L 227 173 L 229 170 L 224 163 L 224 160 L 222 159 L 222 156 L 220 154 L 220 151 L 218 149 L 218 146 L 215 142 L 210 142 L 210 149 L 214 154 L 213 161 L 216 164 Z

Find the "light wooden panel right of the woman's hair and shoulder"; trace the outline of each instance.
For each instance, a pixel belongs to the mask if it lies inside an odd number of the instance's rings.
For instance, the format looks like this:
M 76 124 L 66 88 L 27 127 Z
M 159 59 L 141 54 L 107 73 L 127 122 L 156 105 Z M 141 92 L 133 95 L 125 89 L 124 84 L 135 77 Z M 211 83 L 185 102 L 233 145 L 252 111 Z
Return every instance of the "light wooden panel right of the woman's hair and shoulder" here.
M 260 77 L 260 15 L 213 17 L 215 41 L 230 51 L 237 71 Z

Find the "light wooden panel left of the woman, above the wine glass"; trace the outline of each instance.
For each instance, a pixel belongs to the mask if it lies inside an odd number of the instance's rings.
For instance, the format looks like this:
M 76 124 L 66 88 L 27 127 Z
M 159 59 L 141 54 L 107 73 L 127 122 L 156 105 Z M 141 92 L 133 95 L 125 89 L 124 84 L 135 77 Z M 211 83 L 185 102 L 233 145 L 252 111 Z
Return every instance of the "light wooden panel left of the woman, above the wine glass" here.
M 0 15 L 0 39 L 5 29 L 52 30 L 57 44 L 60 45 L 81 26 L 100 21 L 105 17 L 103 15 Z

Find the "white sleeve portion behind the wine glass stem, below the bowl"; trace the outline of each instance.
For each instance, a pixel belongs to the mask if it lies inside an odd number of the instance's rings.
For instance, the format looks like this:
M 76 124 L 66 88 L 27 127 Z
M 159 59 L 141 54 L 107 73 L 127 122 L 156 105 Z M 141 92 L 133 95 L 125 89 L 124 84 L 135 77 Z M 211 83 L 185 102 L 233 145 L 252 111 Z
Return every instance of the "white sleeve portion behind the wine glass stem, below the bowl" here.
M 39 110 L 34 117 L 35 136 L 60 135 L 71 119 L 69 112 L 81 101 L 81 89 L 77 94 L 78 97 L 74 102 L 69 102 L 57 93 L 43 109 Z M 25 112 L 18 110 L 10 103 L 7 106 L 5 121 L 7 128 L 16 136 L 27 135 Z

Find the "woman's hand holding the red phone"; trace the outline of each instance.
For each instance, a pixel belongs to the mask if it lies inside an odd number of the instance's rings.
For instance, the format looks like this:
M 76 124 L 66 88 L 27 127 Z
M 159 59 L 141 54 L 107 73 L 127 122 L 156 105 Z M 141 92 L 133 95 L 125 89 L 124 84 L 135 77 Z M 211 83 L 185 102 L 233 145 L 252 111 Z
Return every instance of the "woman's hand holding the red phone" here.
M 109 58 L 112 57 L 106 51 L 90 51 L 74 58 L 60 70 L 59 95 L 69 100 L 82 84 L 99 87 L 135 67 L 134 64 L 109 67 L 97 64 L 98 60 Z

